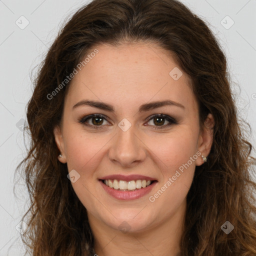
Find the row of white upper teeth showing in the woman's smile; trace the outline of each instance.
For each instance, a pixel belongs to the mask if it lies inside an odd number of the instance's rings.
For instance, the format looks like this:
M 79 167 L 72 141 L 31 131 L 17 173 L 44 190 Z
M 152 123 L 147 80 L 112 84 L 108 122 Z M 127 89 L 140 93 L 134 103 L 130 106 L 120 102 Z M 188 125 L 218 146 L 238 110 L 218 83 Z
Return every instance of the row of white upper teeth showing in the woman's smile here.
M 111 179 L 104 179 L 104 183 L 116 190 L 135 190 L 135 189 L 140 189 L 141 187 L 146 187 L 152 183 L 151 180 L 130 180 L 130 181 L 125 181 L 125 180 L 111 180 Z

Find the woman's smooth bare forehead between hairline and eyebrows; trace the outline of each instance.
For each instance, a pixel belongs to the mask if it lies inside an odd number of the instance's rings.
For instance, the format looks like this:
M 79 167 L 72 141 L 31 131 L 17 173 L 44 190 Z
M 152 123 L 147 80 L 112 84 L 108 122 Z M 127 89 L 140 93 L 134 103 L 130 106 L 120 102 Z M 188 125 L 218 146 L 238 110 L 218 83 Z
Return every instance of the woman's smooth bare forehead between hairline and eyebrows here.
M 87 57 L 93 49 L 98 52 L 87 58 L 71 81 L 66 95 L 69 102 L 100 99 L 139 106 L 142 102 L 171 99 L 194 107 L 190 78 L 171 53 L 147 43 L 99 44 L 87 52 Z

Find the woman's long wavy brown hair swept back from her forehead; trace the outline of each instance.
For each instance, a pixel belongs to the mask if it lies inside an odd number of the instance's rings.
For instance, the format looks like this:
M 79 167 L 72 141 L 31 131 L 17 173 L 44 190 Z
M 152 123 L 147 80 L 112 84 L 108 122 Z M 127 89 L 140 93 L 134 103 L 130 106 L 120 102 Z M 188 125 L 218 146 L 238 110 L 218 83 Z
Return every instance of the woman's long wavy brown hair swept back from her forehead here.
M 70 18 L 49 48 L 27 105 L 30 147 L 18 165 L 30 207 L 22 235 L 33 256 L 93 255 L 86 209 L 77 198 L 66 164 L 58 161 L 53 127 L 61 120 L 67 82 L 58 84 L 98 43 L 153 42 L 175 57 L 192 80 L 200 125 L 208 113 L 214 133 L 208 161 L 196 166 L 187 194 L 182 256 L 255 256 L 256 183 L 252 145 L 230 90 L 226 58 L 204 21 L 177 0 L 93 0 Z M 249 124 L 246 123 L 248 126 Z M 221 225 L 234 229 L 226 234 Z

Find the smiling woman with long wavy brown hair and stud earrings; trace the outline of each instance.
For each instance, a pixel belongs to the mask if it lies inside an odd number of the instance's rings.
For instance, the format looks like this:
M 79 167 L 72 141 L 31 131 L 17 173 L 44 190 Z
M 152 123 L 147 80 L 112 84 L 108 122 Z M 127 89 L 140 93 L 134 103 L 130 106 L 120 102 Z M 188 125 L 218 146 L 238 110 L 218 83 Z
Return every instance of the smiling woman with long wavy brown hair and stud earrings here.
M 32 255 L 256 255 L 252 146 L 226 58 L 182 3 L 92 1 L 35 83 Z

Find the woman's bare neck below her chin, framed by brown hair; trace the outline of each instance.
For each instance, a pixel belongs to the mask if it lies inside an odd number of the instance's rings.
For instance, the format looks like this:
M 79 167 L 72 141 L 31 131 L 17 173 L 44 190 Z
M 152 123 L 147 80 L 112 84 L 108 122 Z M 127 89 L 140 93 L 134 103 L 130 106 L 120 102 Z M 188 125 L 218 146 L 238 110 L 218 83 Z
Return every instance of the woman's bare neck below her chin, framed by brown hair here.
M 100 223 L 88 213 L 95 253 L 98 256 L 178 256 L 185 209 L 184 201 L 171 217 L 144 231 L 126 233 Z

